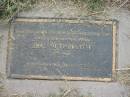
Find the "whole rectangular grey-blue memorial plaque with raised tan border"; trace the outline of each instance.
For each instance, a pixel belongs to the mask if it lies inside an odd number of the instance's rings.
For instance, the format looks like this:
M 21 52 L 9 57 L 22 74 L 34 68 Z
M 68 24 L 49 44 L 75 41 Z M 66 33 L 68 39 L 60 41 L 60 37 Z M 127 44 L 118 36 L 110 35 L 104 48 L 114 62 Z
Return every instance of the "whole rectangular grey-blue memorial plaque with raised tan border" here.
M 10 78 L 111 81 L 116 22 L 16 19 L 7 55 Z

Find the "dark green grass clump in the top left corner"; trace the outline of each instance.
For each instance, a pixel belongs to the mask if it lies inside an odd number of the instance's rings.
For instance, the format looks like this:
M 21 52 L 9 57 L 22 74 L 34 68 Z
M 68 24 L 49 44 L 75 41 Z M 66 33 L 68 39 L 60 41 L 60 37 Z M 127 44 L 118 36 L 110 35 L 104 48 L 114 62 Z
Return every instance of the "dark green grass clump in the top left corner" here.
M 37 0 L 0 0 L 0 19 L 11 19 L 18 12 L 32 8 Z

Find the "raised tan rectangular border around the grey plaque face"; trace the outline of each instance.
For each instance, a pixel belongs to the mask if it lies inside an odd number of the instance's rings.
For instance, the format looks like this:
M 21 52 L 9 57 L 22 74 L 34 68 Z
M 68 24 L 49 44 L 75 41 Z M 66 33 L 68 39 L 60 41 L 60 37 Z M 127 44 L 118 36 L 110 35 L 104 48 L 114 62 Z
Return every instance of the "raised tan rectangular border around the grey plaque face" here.
M 72 76 L 40 76 L 40 75 L 21 75 L 21 74 L 11 74 L 10 65 L 9 65 L 9 49 L 11 46 L 12 40 L 12 32 L 13 25 L 10 27 L 10 31 L 8 33 L 8 49 L 7 49 L 7 76 L 8 78 L 15 79 L 45 79 L 45 80 L 82 80 L 82 81 L 114 81 L 116 75 L 116 67 L 117 67 L 117 21 L 116 20 L 84 20 L 84 19 L 59 19 L 59 18 L 45 18 L 45 19 L 28 19 L 28 18 L 17 18 L 15 22 L 40 22 L 40 23 L 94 23 L 94 24 L 111 24 L 112 25 L 112 76 L 110 78 L 100 78 L 100 77 L 72 77 Z

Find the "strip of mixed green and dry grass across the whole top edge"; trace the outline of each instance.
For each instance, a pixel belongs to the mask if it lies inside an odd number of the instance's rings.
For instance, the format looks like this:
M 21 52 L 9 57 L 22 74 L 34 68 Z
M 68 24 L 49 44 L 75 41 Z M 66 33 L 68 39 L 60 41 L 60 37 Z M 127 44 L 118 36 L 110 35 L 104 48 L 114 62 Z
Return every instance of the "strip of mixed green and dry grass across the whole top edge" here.
M 63 0 L 64 2 L 69 2 L 69 0 Z M 60 0 L 0 0 L 0 19 L 11 20 L 20 11 L 28 10 L 33 8 L 35 5 L 41 2 L 63 2 Z M 71 0 L 78 6 L 86 5 L 86 9 L 89 12 L 104 10 L 107 6 L 110 7 L 127 7 L 130 8 L 129 0 Z

